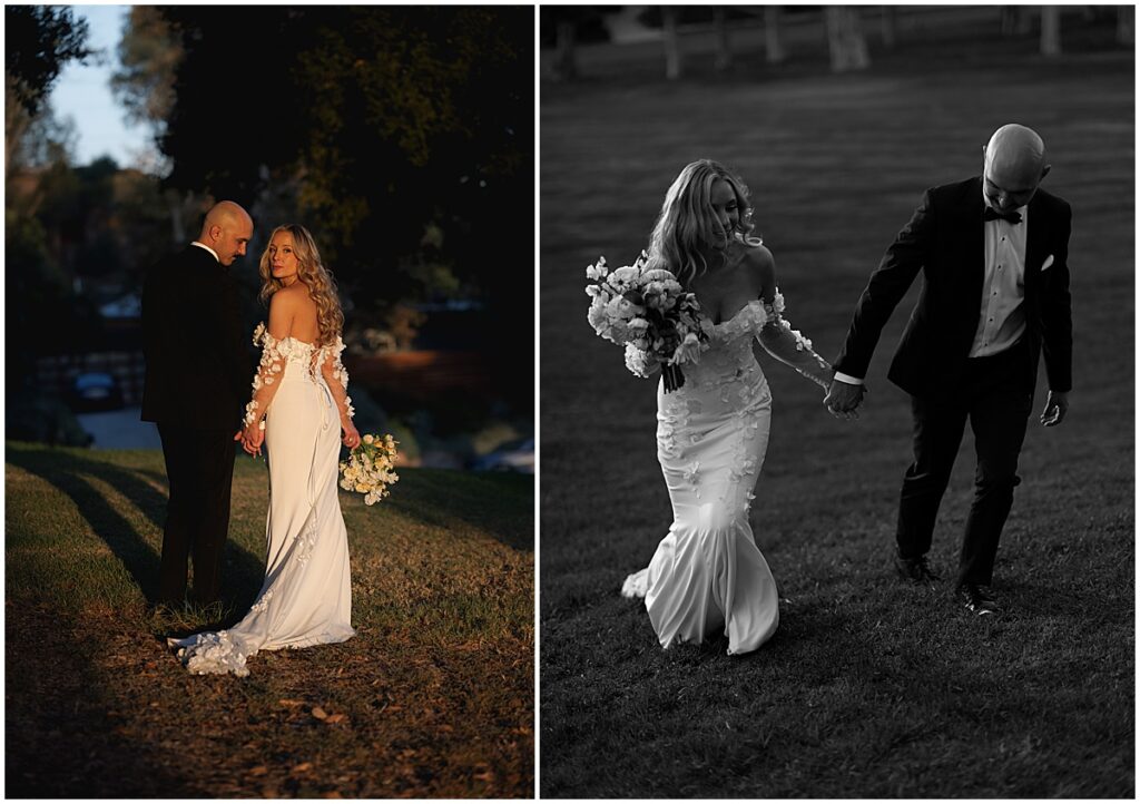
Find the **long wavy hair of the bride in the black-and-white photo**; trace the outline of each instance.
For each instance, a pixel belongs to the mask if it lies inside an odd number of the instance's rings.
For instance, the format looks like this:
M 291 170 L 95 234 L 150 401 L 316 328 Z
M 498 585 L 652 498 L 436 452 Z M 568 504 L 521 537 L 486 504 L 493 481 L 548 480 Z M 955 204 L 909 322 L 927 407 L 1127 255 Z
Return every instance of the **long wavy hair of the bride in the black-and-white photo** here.
M 744 182 L 712 160 L 686 164 L 665 194 L 665 203 L 649 243 L 650 263 L 671 271 L 685 287 L 708 270 L 706 250 L 710 245 L 717 249 L 717 238 L 712 233 L 718 227 L 710 202 L 712 184 L 717 179 L 723 179 L 736 196 L 740 219 L 733 233 L 735 238 L 750 245 L 760 243 L 759 238 L 750 236 L 755 226 Z

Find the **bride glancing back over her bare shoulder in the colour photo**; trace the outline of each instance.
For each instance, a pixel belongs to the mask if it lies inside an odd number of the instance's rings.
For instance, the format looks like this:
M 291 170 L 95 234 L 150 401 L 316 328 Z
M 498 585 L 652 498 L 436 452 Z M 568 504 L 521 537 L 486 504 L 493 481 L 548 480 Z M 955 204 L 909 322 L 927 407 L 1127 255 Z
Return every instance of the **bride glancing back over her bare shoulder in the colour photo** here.
M 340 444 L 360 444 L 340 359 L 344 317 L 304 227 L 276 228 L 259 267 L 269 328 L 254 332 L 261 364 L 238 437 L 251 455 L 262 442 L 269 450 L 266 579 L 233 628 L 169 640 L 192 673 L 249 675 L 246 660 L 259 650 L 355 634 L 348 534 L 336 496 Z

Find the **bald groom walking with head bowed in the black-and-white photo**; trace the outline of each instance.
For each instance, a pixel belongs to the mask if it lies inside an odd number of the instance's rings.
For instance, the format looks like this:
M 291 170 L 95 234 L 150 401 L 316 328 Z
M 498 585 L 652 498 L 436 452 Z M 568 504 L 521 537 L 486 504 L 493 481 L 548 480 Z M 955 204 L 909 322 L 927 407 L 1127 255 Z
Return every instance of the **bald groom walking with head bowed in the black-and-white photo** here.
M 988 585 L 1020 482 L 1017 458 L 1040 355 L 1049 377 L 1042 424 L 1061 423 L 1073 384 L 1072 210 L 1037 189 L 1050 165 L 1033 130 L 1003 125 L 984 154 L 983 176 L 928 189 L 887 250 L 855 308 L 824 399 L 836 414 L 858 407 L 879 334 L 922 271 L 918 303 L 887 375 L 911 395 L 914 423 L 895 565 L 914 583 L 938 579 L 926 554 L 969 420 L 978 463 L 955 592 L 976 615 L 997 611 Z

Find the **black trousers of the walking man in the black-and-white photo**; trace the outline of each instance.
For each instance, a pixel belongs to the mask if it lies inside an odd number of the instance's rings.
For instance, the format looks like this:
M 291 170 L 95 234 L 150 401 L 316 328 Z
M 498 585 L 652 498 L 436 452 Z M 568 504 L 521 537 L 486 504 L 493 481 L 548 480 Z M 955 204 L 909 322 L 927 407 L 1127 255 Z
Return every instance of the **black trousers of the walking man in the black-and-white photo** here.
M 990 584 L 1002 528 L 1013 504 L 1017 460 L 1033 408 L 1033 382 L 1024 367 L 1027 346 L 967 362 L 962 381 L 943 396 L 911 397 L 914 462 L 903 478 L 898 506 L 898 553 L 926 554 L 938 505 L 970 422 L 977 469 L 966 521 L 958 583 Z

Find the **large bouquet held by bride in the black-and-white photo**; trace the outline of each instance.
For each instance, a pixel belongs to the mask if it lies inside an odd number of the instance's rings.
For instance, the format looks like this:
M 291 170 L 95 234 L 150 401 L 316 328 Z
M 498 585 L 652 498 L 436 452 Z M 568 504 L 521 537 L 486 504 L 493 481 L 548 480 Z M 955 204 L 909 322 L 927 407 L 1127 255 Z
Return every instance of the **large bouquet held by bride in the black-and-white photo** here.
M 668 393 L 685 384 L 682 364 L 697 363 L 708 349 L 708 322 L 697 315 L 697 297 L 648 261 L 643 251 L 632 266 L 611 271 L 601 257 L 586 268 L 586 317 L 594 332 L 626 348 L 626 367 L 637 376 L 648 377 L 660 365 Z

